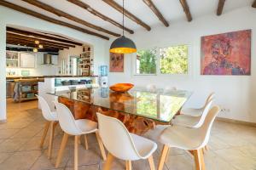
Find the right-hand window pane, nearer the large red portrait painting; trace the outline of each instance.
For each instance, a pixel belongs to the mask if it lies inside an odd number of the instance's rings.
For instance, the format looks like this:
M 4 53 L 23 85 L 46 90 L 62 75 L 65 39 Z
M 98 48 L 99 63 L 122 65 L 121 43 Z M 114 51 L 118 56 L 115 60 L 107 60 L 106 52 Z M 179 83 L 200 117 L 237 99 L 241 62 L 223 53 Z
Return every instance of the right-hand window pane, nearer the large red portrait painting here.
M 169 48 L 160 48 L 161 74 L 188 73 L 188 46 L 180 45 Z

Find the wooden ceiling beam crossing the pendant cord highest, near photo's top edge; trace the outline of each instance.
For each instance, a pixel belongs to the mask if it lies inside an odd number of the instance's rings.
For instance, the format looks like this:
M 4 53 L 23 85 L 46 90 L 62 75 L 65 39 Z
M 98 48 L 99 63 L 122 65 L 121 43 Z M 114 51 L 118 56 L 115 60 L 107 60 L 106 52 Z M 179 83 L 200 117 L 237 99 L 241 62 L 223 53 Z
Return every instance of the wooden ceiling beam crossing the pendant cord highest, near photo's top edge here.
M 111 6 L 112 8 L 118 10 L 120 13 L 123 14 L 123 7 L 121 7 L 118 3 L 115 3 L 113 0 L 102 0 L 102 1 L 107 3 L 109 6 Z M 143 20 L 138 19 L 137 16 L 135 16 L 134 14 L 131 14 L 126 9 L 124 10 L 124 13 L 125 13 L 126 17 L 128 17 L 131 20 L 133 20 L 138 25 L 143 26 L 148 31 L 151 30 L 150 26 L 148 26 L 146 23 L 144 23 Z

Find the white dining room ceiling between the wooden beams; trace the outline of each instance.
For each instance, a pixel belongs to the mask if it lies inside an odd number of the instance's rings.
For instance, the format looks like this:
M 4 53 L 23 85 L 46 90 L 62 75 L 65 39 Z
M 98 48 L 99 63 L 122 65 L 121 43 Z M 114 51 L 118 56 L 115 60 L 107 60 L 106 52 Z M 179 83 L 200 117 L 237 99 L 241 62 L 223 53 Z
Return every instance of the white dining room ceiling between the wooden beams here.
M 37 8 L 29 3 L 25 3 L 21 0 L 6 0 L 10 3 L 15 3 L 25 8 L 30 8 L 38 13 L 48 15 L 49 17 L 55 18 L 57 20 L 66 21 L 75 26 L 80 26 L 87 28 L 90 31 L 95 31 L 90 29 L 89 27 L 80 25 L 72 20 L 67 20 L 66 18 L 58 17 L 55 14 L 51 14 L 47 11 L 44 11 L 41 8 Z M 68 14 L 72 14 L 82 20 L 86 20 L 91 24 L 96 26 L 101 26 L 109 31 L 113 31 L 116 33 L 121 33 L 121 29 L 117 26 L 113 26 L 111 23 L 102 20 L 101 18 L 96 17 L 93 14 L 90 14 L 84 8 L 79 8 L 79 6 L 74 5 L 73 3 L 69 3 L 66 0 L 39 0 L 43 3 L 47 3 L 54 8 L 59 8 L 65 11 Z M 102 0 L 81 0 L 84 3 L 90 5 L 90 7 L 95 8 L 98 12 L 107 15 L 113 20 L 122 22 L 122 14 L 120 14 L 117 10 L 110 7 L 107 3 L 102 2 Z M 157 8 L 160 9 L 160 12 L 166 18 L 166 20 L 172 26 L 173 22 L 187 20 L 186 15 L 183 12 L 183 8 L 179 3 L 179 0 L 152 0 Z M 122 5 L 122 0 L 115 0 L 116 3 Z M 191 15 L 193 19 L 196 19 L 205 14 L 216 14 L 218 7 L 218 0 L 187 0 L 190 8 Z M 224 13 L 229 12 L 230 10 L 234 10 L 236 8 L 242 8 L 246 6 L 251 6 L 253 0 L 226 0 L 224 4 Z M 139 19 L 143 20 L 148 26 L 164 26 L 160 20 L 155 16 L 155 14 L 148 8 L 148 6 L 143 3 L 143 0 L 125 0 L 125 9 L 130 11 L 132 14 L 135 14 Z M 221 17 L 221 16 L 220 16 Z M 192 20 L 193 22 L 193 20 Z M 137 25 L 134 21 L 125 17 L 125 27 L 130 28 L 131 30 L 136 31 L 138 29 L 142 29 L 142 26 Z M 145 30 L 146 31 L 146 30 Z M 112 37 L 108 34 L 105 34 L 100 31 L 95 31 L 101 33 L 102 35 Z M 126 33 L 128 34 L 128 33 Z

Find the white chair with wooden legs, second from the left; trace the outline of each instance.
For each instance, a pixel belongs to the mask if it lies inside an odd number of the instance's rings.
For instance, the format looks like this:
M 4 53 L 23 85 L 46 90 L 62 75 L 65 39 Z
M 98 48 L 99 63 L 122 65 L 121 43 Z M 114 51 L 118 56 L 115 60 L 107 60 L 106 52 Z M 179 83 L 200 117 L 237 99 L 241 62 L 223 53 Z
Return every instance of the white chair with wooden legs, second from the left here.
M 59 118 L 61 129 L 64 131 L 64 135 L 61 141 L 61 148 L 59 150 L 57 160 L 55 162 L 55 167 L 59 167 L 61 163 L 61 159 L 63 156 L 63 152 L 67 145 L 67 139 L 70 135 L 74 136 L 74 169 L 78 170 L 79 166 L 79 137 L 80 135 L 84 135 L 84 144 L 87 144 L 86 134 L 88 133 L 96 133 L 96 139 L 100 146 L 100 150 L 102 153 L 103 160 L 106 160 L 106 153 L 104 146 L 102 144 L 102 139 L 99 136 L 97 123 L 92 122 L 87 119 L 79 119 L 75 120 L 71 111 L 67 108 L 66 105 L 55 102 L 55 107 L 57 111 L 57 115 Z M 86 146 L 85 146 L 86 148 Z M 86 148 L 88 149 L 88 148 Z

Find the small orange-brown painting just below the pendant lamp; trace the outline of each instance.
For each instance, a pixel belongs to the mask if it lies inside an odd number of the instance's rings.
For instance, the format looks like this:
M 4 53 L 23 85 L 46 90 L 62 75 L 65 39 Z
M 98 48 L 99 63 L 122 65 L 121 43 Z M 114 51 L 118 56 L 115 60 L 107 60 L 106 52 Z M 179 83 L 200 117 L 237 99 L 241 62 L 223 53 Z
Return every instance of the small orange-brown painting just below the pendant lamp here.
M 124 72 L 124 54 L 110 53 L 109 71 Z

